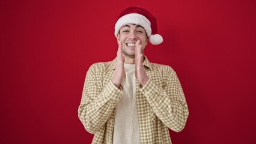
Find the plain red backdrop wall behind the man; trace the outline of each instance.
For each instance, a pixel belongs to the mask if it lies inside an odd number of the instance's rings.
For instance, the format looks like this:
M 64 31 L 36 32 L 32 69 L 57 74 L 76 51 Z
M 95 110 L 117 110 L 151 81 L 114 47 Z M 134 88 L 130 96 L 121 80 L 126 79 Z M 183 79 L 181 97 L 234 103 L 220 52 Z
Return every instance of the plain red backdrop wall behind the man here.
M 117 51 L 128 6 L 157 18 L 151 62 L 177 72 L 189 119 L 173 143 L 256 143 L 255 1 L 0 2 L 0 143 L 91 143 L 78 119 L 85 74 Z

